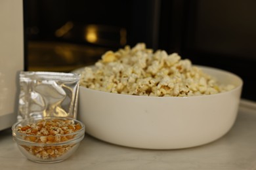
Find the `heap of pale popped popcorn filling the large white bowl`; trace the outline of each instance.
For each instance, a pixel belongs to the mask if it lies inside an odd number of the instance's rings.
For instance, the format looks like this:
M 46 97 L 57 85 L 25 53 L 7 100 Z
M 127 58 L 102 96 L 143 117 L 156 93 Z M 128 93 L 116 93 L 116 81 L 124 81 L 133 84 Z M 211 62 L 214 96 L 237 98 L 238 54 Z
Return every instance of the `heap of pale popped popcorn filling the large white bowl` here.
M 218 84 L 189 59 L 154 52 L 144 43 L 106 52 L 93 67 L 85 67 L 80 84 L 104 92 L 158 97 L 210 95 L 234 88 Z

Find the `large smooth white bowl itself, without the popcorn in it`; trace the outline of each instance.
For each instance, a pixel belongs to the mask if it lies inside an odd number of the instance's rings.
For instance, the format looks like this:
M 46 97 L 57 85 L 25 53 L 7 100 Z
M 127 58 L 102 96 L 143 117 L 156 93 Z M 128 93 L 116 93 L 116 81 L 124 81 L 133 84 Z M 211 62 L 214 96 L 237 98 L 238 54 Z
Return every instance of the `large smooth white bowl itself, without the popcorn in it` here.
M 229 92 L 193 97 L 148 97 L 79 89 L 78 119 L 87 133 L 135 148 L 176 149 L 210 143 L 233 126 L 243 81 L 220 69 L 202 67 Z

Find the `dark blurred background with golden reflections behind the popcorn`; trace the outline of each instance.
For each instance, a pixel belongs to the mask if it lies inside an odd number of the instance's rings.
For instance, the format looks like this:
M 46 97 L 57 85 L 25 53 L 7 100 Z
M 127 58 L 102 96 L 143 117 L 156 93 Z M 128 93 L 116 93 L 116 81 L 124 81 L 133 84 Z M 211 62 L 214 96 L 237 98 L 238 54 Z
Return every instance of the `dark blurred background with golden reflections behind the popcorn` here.
M 256 1 L 24 0 L 25 69 L 69 72 L 145 42 L 244 80 L 256 100 Z

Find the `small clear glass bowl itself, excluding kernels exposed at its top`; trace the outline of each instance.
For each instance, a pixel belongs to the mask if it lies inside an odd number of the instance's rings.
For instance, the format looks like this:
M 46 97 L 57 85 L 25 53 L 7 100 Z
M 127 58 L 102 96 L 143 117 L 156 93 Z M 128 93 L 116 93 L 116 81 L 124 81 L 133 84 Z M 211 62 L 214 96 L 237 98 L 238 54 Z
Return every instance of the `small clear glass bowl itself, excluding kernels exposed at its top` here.
M 28 125 L 36 124 L 41 120 L 47 121 L 67 121 L 73 125 L 77 124 L 79 129 L 72 133 L 66 134 L 44 134 L 44 135 L 32 135 L 31 133 L 21 131 L 21 128 L 26 129 Z M 58 121 L 57 121 L 58 122 Z M 49 128 L 50 125 L 47 125 Z M 30 126 L 33 131 L 34 126 Z M 38 127 L 38 126 L 37 126 Z M 73 126 L 74 127 L 74 126 Z M 56 127 L 53 127 L 54 132 L 58 131 Z M 64 130 L 68 127 L 63 127 Z M 59 129 L 61 130 L 61 129 Z M 62 131 L 63 132 L 63 131 Z M 73 118 L 61 118 L 61 117 L 45 117 L 45 118 L 29 118 L 16 122 L 12 126 L 12 137 L 16 141 L 18 148 L 31 161 L 39 163 L 54 163 L 66 160 L 79 146 L 80 141 L 85 136 L 85 126 L 83 123 Z M 53 140 L 52 140 L 53 139 Z M 58 140 L 55 140 L 58 139 Z

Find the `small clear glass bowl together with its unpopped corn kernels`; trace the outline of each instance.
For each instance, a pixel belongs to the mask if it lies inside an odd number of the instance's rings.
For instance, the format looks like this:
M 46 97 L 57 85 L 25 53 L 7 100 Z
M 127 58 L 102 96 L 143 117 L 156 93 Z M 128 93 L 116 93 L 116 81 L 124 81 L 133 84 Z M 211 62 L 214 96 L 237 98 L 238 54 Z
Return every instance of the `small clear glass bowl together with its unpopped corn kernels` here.
M 28 118 L 12 126 L 12 137 L 29 160 L 54 163 L 66 160 L 85 134 L 83 123 L 73 118 Z

